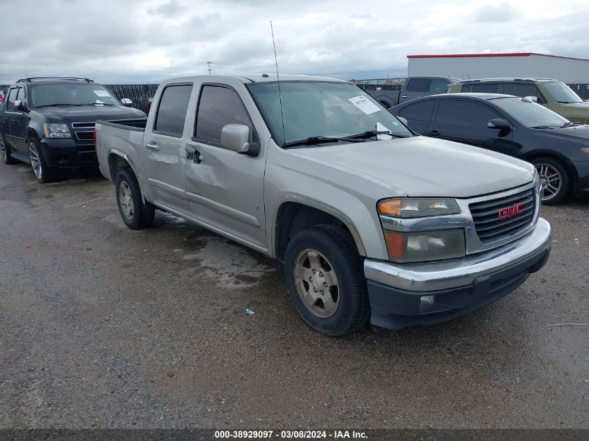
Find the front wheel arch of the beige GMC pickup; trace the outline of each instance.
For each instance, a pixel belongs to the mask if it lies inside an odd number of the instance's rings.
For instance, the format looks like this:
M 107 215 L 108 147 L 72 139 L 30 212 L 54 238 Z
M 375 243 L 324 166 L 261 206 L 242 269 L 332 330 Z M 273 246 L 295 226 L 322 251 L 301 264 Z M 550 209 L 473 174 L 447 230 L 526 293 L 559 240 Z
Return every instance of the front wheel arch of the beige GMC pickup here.
M 286 246 L 294 234 L 309 226 L 319 224 L 342 226 L 353 238 L 358 254 L 366 256 L 360 233 L 351 219 L 326 203 L 303 196 L 285 196 L 276 204 L 272 219 L 270 249 L 280 261 L 284 259 Z

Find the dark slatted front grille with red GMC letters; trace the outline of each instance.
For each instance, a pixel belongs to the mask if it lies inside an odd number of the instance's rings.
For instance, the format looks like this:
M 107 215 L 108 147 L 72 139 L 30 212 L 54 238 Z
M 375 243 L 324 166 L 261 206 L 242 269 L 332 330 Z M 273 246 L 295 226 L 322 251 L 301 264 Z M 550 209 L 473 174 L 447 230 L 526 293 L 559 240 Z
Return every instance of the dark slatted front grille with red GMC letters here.
M 482 243 L 493 242 L 519 233 L 532 224 L 535 215 L 535 191 L 529 188 L 523 192 L 510 194 L 496 199 L 488 199 L 471 203 L 471 210 L 475 230 Z M 521 205 L 521 213 L 507 216 L 510 208 Z M 503 219 L 500 216 L 503 213 Z

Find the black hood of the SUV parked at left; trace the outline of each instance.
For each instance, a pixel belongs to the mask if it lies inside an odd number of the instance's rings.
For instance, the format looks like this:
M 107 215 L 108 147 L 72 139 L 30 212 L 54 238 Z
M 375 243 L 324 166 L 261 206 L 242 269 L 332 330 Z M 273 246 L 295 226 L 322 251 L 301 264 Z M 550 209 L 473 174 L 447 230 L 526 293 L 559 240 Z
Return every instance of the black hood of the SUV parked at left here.
M 144 112 L 124 106 L 63 106 L 41 107 L 35 109 L 55 123 L 93 123 L 99 119 L 110 121 L 118 119 L 146 118 Z

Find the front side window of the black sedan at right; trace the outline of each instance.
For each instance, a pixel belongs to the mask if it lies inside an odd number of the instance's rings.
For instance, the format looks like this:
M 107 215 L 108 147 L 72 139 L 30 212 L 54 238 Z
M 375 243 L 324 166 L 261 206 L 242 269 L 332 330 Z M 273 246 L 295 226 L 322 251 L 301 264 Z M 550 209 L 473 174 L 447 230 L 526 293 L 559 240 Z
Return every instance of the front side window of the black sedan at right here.
M 487 127 L 489 120 L 501 116 L 489 107 L 466 100 L 440 100 L 436 121 L 438 123 Z

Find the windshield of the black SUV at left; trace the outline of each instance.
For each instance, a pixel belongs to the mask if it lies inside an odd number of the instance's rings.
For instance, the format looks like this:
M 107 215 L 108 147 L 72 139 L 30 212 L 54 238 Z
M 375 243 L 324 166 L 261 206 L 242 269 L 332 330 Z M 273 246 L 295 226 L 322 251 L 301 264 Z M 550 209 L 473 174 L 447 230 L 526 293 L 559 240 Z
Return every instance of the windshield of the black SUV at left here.
M 33 84 L 30 88 L 33 107 L 51 105 L 106 104 L 120 106 L 112 93 L 94 83 Z

